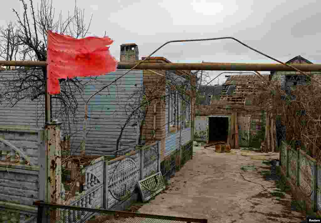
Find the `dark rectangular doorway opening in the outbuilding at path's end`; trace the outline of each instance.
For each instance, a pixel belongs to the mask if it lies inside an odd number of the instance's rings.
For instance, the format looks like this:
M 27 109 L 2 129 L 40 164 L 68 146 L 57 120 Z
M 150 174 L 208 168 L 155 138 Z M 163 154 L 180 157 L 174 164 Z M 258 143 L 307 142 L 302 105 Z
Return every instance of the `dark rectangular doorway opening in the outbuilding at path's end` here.
M 228 117 L 209 117 L 209 142 L 227 142 L 229 134 Z

